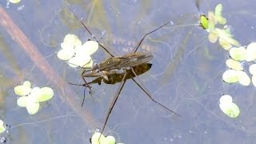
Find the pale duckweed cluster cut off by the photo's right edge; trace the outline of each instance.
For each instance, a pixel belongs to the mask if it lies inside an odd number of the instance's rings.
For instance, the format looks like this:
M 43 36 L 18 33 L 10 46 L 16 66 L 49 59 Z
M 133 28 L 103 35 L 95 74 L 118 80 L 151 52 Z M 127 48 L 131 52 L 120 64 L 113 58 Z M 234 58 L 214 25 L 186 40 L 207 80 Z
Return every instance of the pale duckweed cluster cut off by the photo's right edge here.
M 254 86 L 256 86 L 256 64 L 252 64 L 249 67 L 250 74 L 253 75 L 251 81 L 249 75 L 243 71 L 242 67 L 242 62 L 254 62 L 256 60 L 256 42 L 252 42 L 246 47 L 233 47 L 229 52 L 231 58 L 226 60 L 226 66 L 230 70 L 226 70 L 223 73 L 222 78 L 224 82 L 239 82 L 243 86 L 249 86 L 252 81 Z

